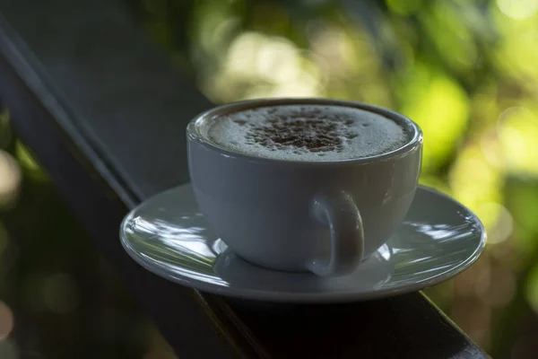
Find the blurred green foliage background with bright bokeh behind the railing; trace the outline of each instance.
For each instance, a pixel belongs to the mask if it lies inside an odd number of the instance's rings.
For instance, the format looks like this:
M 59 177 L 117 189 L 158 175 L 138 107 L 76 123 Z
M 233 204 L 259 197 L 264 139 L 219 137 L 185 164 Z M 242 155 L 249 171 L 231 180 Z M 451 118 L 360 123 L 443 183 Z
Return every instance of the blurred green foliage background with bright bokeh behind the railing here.
M 419 123 L 421 183 L 489 232 L 425 292 L 492 357 L 538 357 L 538 0 L 124 1 L 215 103 L 330 97 Z M 0 148 L 0 358 L 173 357 L 6 110 Z

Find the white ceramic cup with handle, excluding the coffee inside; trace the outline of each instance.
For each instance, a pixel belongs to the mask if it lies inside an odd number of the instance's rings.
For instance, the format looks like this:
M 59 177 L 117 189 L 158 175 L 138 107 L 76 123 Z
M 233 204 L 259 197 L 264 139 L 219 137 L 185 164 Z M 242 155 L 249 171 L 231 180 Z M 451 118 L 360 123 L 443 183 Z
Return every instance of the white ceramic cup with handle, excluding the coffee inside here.
M 389 153 L 344 161 L 282 161 L 211 141 L 206 121 L 279 105 L 365 109 L 404 127 L 408 142 Z M 409 118 L 360 102 L 278 99 L 210 109 L 187 127 L 195 197 L 213 231 L 247 261 L 272 269 L 341 275 L 393 234 L 411 206 L 421 171 L 421 129 Z

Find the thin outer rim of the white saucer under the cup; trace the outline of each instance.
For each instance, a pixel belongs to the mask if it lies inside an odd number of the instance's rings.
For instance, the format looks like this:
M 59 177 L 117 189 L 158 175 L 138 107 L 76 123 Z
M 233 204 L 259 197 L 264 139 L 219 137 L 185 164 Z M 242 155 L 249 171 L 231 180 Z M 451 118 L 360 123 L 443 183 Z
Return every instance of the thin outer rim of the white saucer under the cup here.
M 183 186 L 190 186 L 190 183 L 177 186 L 175 188 L 169 188 L 168 190 L 165 190 L 153 197 L 157 196 L 165 196 L 166 193 L 172 192 L 176 190 L 179 187 Z M 148 271 L 152 272 L 153 274 L 157 276 L 161 276 L 164 279 L 167 279 L 173 283 L 177 283 L 179 285 L 185 285 L 187 287 L 193 288 L 195 290 L 204 292 L 204 293 L 213 293 L 218 295 L 223 295 L 227 297 L 233 297 L 233 298 L 240 298 L 240 299 L 247 299 L 247 300 L 254 300 L 254 301 L 261 301 L 261 302 L 289 302 L 289 303 L 334 303 L 334 302 L 362 302 L 362 301 L 371 301 L 375 299 L 382 299 L 386 297 L 392 297 L 395 295 L 401 295 L 405 293 L 412 293 L 417 292 L 422 289 L 428 288 L 432 285 L 438 285 L 439 283 L 445 282 L 449 279 L 454 278 L 455 276 L 461 274 L 464 272 L 465 269 L 468 267 L 471 267 L 473 263 L 480 258 L 482 251 L 484 250 L 486 246 L 487 241 L 487 233 L 485 231 L 484 225 L 482 221 L 478 218 L 477 215 L 474 215 L 473 211 L 471 211 L 469 208 L 461 204 L 459 201 L 457 201 L 455 198 L 452 198 L 440 191 L 438 191 L 435 188 L 430 188 L 427 186 L 419 185 L 417 186 L 417 190 L 424 190 L 427 192 L 430 192 L 434 196 L 443 197 L 443 199 L 448 200 L 450 202 L 453 202 L 456 204 L 456 206 L 462 207 L 465 212 L 467 212 L 469 215 L 472 215 L 473 223 L 478 226 L 481 233 L 480 242 L 476 246 L 475 250 L 471 255 L 469 255 L 464 262 L 460 263 L 456 267 L 450 267 L 446 271 L 439 273 L 436 276 L 432 276 L 426 280 L 422 280 L 420 282 L 412 283 L 409 285 L 403 285 L 396 288 L 386 288 L 383 289 L 383 287 L 380 287 L 380 289 L 372 288 L 369 292 L 353 292 L 353 291 L 343 291 L 343 292 L 325 292 L 325 293 L 319 293 L 319 292 L 303 292 L 303 293 L 293 293 L 293 292 L 275 292 L 275 291 L 264 291 L 259 289 L 245 289 L 245 288 L 237 288 L 233 286 L 221 286 L 221 285 L 214 285 L 212 283 L 204 282 L 195 278 L 183 278 L 179 276 L 173 276 L 170 275 L 169 272 L 167 272 L 166 269 L 161 268 L 159 265 L 152 265 L 150 261 L 152 258 L 145 257 L 142 254 L 135 251 L 129 244 L 129 242 L 126 240 L 126 235 L 124 233 L 126 232 L 126 224 L 129 223 L 130 219 L 133 218 L 134 213 L 137 209 L 139 209 L 141 206 L 145 204 L 146 201 L 144 201 L 139 206 L 136 206 L 132 211 L 129 212 L 128 215 L 124 218 L 120 225 L 120 242 L 126 250 L 127 254 L 134 259 L 136 263 L 138 263 L 140 266 L 144 267 Z M 148 199 L 151 200 L 151 198 Z M 387 242 L 390 242 L 391 240 L 388 240 Z M 266 269 L 270 270 L 270 269 Z M 296 275 L 295 273 L 290 273 L 290 275 Z M 308 275 L 308 274 L 300 274 L 300 275 Z M 313 275 L 314 276 L 314 275 Z

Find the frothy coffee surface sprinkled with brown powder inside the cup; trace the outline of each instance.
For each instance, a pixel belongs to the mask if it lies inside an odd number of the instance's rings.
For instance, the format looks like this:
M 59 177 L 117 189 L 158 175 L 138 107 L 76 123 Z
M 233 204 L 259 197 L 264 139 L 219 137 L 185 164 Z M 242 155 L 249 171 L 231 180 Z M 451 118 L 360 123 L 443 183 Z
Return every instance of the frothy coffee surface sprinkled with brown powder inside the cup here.
M 288 161 L 341 161 L 387 153 L 408 137 L 392 119 L 343 106 L 280 105 L 212 119 L 207 136 L 233 152 Z

